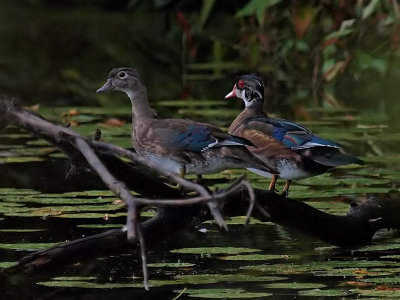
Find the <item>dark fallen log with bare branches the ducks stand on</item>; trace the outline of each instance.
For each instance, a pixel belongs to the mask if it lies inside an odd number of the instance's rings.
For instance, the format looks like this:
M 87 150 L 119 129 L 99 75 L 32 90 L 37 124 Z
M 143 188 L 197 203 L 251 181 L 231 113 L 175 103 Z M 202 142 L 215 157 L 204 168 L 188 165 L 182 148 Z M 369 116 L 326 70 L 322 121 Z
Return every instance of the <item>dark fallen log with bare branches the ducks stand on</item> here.
M 65 264 L 110 253 L 137 251 L 141 245 L 137 238 L 137 229 L 131 229 L 133 230 L 131 239 L 127 239 L 129 227 L 140 228 L 146 244 L 150 248 L 154 248 L 157 247 L 157 242 L 165 236 L 173 238 L 182 230 L 190 230 L 194 225 L 206 219 L 213 217 L 218 219 L 222 215 L 228 217 L 244 215 L 246 212 L 252 213 L 253 217 L 262 221 L 271 221 L 300 230 L 328 243 L 343 247 L 354 248 L 370 243 L 374 233 L 379 229 L 400 228 L 400 219 L 396 217 L 400 214 L 400 201 L 395 196 L 371 198 L 363 204 L 352 205 L 347 215 L 337 216 L 270 191 L 253 190 L 242 179 L 234 182 L 226 190 L 210 193 L 206 187 L 181 181 L 171 174 L 160 174 L 142 158 L 130 157 L 130 154 L 124 149 L 84 139 L 70 128 L 55 125 L 34 113 L 19 108 L 13 102 L 0 100 L 0 129 L 1 125 L 3 127 L 18 126 L 38 138 L 47 140 L 65 153 L 74 166 L 91 168 L 98 174 L 100 172 L 99 176 L 105 184 L 119 196 L 121 193 L 118 191 L 121 191 L 122 186 L 124 193 L 128 193 L 128 188 L 130 188 L 141 193 L 143 197 L 147 197 L 147 199 L 125 197 L 128 199 L 125 199 L 128 210 L 128 204 L 133 203 L 133 219 L 136 218 L 133 223 L 128 220 L 127 230 L 109 230 L 32 253 L 22 258 L 16 267 L 6 269 L 7 274 L 56 269 Z M 82 144 L 77 145 L 77 141 L 83 141 L 83 146 Z M 93 157 L 88 157 L 88 153 L 89 156 L 94 156 L 99 161 L 94 163 Z M 134 162 L 122 161 L 118 157 L 121 155 L 130 157 Z M 98 163 L 106 171 L 97 169 L 95 164 Z M 107 177 L 104 176 L 106 173 L 111 177 L 104 178 Z M 182 194 L 165 185 L 160 177 L 175 182 L 179 181 L 185 184 L 189 190 L 197 191 L 198 194 L 191 197 Z M 114 179 L 118 181 L 118 184 L 122 183 L 123 185 L 114 186 L 111 184 Z M 155 198 L 162 199 L 154 200 Z M 156 217 L 140 222 L 136 209 L 145 205 L 155 205 L 159 208 L 159 212 Z

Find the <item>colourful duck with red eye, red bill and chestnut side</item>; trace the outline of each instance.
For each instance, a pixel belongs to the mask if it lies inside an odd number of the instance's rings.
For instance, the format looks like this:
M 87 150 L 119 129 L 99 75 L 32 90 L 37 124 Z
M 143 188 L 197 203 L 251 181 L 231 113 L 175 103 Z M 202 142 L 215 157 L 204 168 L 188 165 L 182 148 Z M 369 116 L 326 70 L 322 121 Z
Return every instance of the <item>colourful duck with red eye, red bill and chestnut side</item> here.
M 341 152 L 339 144 L 322 139 L 310 129 L 299 124 L 277 118 L 270 118 L 263 111 L 264 83 L 254 75 L 238 78 L 233 90 L 225 96 L 240 98 L 244 110 L 233 121 L 228 133 L 244 137 L 258 148 L 252 150 L 261 160 L 282 151 L 275 143 L 278 141 L 290 152 L 282 152 L 275 160 L 279 177 L 286 179 L 282 193 L 287 193 L 291 180 L 322 174 L 329 169 L 348 164 L 364 164 L 354 156 Z M 271 178 L 270 189 L 275 189 L 278 175 L 249 168 L 250 171 Z

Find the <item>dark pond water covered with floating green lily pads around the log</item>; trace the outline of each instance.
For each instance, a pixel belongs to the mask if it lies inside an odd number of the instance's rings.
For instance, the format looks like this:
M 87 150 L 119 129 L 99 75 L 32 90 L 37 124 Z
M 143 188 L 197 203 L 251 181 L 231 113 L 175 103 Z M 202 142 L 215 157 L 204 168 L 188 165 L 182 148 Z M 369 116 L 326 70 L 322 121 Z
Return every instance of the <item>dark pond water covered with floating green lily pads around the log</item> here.
M 224 105 L 162 101 L 156 109 L 160 115 L 173 110 L 181 117 L 227 126 L 239 110 Z M 107 142 L 123 147 L 130 146 L 129 112 L 128 107 L 38 111 L 57 122 L 67 118 L 86 136 L 100 128 Z M 367 164 L 295 182 L 290 197 L 345 214 L 350 201 L 398 193 L 400 134 L 391 131 L 384 119 L 346 110 L 310 113 L 317 121 L 302 124 L 341 143 Z M 111 117 L 123 122 L 107 122 Z M 0 268 L 37 249 L 123 226 L 125 208 L 95 176 L 82 182 L 65 179 L 67 172 L 65 157 L 45 142 L 16 128 L 0 134 Z M 243 172 L 230 170 L 205 178 L 213 188 L 224 187 Z M 255 187 L 267 187 L 265 179 L 247 175 Z M 400 297 L 400 235 L 395 232 L 382 232 L 372 245 L 349 250 L 269 222 L 252 220 L 248 228 L 243 223 L 244 217 L 232 218 L 229 231 L 221 232 L 213 222 L 205 222 L 168 247 L 160 241 L 149 252 L 150 291 L 143 288 L 139 257 L 115 253 L 40 276 L 12 278 L 2 283 L 2 295 L 10 299 Z

